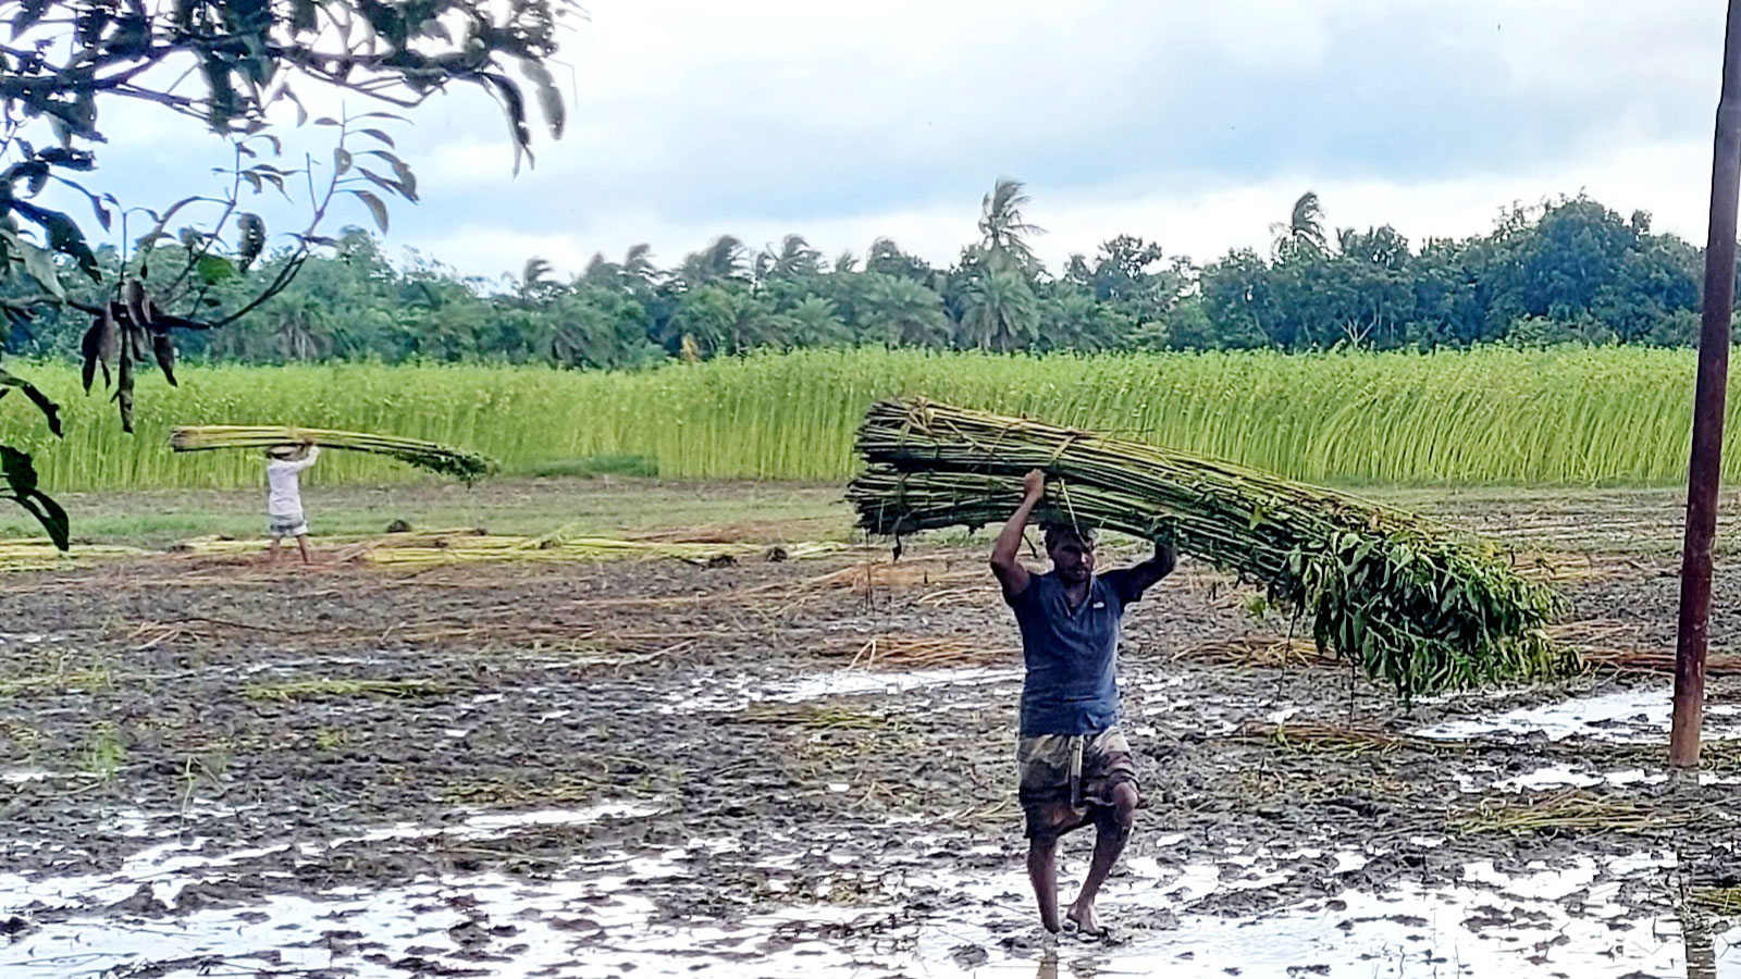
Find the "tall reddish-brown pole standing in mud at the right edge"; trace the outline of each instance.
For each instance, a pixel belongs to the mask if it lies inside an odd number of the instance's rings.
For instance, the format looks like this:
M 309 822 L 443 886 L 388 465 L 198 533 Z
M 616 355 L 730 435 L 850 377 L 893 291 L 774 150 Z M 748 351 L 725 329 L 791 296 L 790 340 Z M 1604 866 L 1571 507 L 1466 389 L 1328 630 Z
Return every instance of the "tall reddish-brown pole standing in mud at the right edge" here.
M 1680 627 L 1675 636 L 1675 719 L 1668 760 L 1699 763 L 1704 719 L 1704 650 L 1711 617 L 1711 538 L 1724 463 L 1724 401 L 1729 387 L 1729 315 L 1736 293 L 1736 199 L 1741 193 L 1741 0 L 1729 0 L 1724 89 L 1711 159 L 1711 221 L 1704 242 L 1699 381 L 1692 395 L 1692 463 L 1687 469 L 1687 537 L 1680 556 Z

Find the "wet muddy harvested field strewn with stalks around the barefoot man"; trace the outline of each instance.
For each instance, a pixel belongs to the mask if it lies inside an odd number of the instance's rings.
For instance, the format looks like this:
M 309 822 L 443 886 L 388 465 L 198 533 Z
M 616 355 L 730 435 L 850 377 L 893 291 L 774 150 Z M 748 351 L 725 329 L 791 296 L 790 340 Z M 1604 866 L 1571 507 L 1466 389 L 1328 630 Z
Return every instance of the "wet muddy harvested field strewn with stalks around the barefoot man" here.
M 1102 941 L 1031 909 L 982 545 L 5 575 L 0 976 L 1741 976 L 1741 740 L 1661 766 L 1673 557 L 1454 514 L 1558 545 L 1602 665 L 1403 711 L 1184 566 L 1128 618 Z

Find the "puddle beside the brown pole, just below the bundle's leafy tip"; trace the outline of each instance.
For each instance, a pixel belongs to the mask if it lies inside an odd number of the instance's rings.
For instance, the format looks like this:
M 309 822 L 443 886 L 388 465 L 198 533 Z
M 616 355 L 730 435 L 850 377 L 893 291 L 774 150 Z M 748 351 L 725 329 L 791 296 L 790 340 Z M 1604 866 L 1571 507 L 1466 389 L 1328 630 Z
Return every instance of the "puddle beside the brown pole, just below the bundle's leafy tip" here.
M 1574 697 L 1555 704 L 1518 707 L 1492 718 L 1457 719 L 1415 728 L 1419 737 L 1471 739 L 1490 735 L 1543 733 L 1548 740 L 1570 737 L 1605 742 L 1654 742 L 1668 735 L 1673 692 L 1668 686 L 1617 690 L 1596 697 Z M 1741 707 L 1708 704 L 1706 739 L 1741 737 Z M 1727 721 L 1727 723 L 1724 723 Z

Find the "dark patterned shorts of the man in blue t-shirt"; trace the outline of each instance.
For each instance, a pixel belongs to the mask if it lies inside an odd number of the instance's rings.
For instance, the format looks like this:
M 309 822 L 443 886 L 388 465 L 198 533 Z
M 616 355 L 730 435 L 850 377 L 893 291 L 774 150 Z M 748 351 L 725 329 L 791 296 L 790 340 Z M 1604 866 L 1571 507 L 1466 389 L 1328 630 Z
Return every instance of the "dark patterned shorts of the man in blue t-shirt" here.
M 1111 812 L 1112 789 L 1130 782 L 1139 794 L 1137 765 L 1118 728 L 1088 735 L 1034 735 L 1017 740 L 1017 798 L 1027 815 L 1027 838 L 1057 840 Z

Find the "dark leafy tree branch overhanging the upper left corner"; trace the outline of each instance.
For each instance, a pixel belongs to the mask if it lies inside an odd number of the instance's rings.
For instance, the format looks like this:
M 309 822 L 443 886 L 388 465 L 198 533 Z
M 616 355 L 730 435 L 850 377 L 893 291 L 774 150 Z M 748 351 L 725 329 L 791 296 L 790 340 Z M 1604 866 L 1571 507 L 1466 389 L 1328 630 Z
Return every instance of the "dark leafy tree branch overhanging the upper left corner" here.
M 132 430 L 134 376 L 155 362 L 174 383 L 176 329 L 226 326 L 279 294 L 312 249 L 334 244 L 319 228 L 336 200 L 355 200 L 383 232 L 388 200 L 418 200 L 416 174 L 390 134 L 402 117 L 310 118 L 310 103 L 338 94 L 407 110 L 475 85 L 501 106 L 519 171 L 533 143 L 528 91 L 552 136 L 562 132 L 564 105 L 545 63 L 575 12 L 571 0 L 0 0 L 0 35 L 9 35 L 0 42 L 0 277 L 42 289 L 5 300 L 0 314 L 26 327 L 44 308 L 87 314 L 85 390 L 101 371 Z M 104 122 L 122 106 L 197 118 L 226 139 L 233 162 L 218 171 L 225 188 L 155 211 L 87 186 L 108 143 Z M 282 162 L 268 118 L 280 106 L 294 110 L 298 125 L 333 131 L 331 160 Z M 66 190 L 89 202 L 89 216 L 49 206 Z M 245 200 L 299 192 L 310 219 L 284 233 L 287 251 L 273 273 L 251 294 L 226 287 L 272 240 Z M 118 270 L 99 261 L 99 233 L 118 233 L 131 249 Z M 162 242 L 176 247 L 160 253 Z M 99 298 L 70 289 L 68 270 Z M 28 383 L 0 380 L 0 394 L 14 387 L 57 432 L 56 406 Z M 30 490 L 17 490 L 30 460 L 14 462 L 7 456 L 12 496 L 49 526 L 57 509 L 42 505 L 35 470 Z

